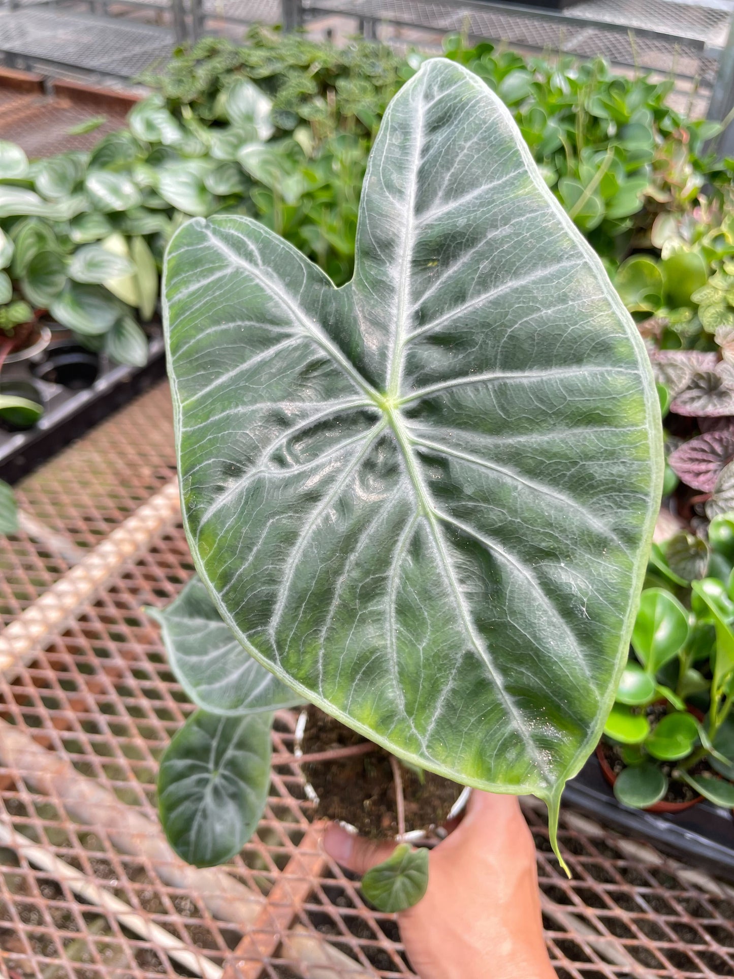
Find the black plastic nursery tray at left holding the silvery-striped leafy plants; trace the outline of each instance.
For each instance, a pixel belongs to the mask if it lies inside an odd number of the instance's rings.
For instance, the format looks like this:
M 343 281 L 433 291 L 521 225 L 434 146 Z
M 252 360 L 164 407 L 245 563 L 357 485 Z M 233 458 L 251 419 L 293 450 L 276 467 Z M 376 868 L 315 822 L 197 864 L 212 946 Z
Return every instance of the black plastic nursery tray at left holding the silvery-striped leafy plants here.
M 27 360 L 6 363 L 0 376 L 4 393 L 35 398 L 45 409 L 29 429 L 0 423 L 0 479 L 7 483 L 20 480 L 165 373 L 160 328 L 154 326 L 148 363 L 128 367 L 84 350 L 64 327 L 47 325 L 51 328 L 48 347 Z

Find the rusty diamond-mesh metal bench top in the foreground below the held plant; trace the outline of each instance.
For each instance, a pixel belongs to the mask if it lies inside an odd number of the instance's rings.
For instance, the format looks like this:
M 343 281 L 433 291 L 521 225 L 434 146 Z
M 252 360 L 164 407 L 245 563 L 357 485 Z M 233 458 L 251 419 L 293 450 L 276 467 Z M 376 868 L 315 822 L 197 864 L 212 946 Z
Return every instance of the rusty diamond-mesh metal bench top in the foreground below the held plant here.
M 173 465 L 161 386 L 25 480 L 19 496 L 89 549 Z M 0 555 L 6 621 L 68 570 L 23 535 L 0 542 Z M 412 976 L 393 917 L 368 909 L 319 849 L 292 763 L 273 769 L 265 816 L 225 868 L 188 867 L 167 848 L 157 765 L 192 707 L 143 606 L 167 603 L 192 571 L 171 521 L 12 682 L 0 680 L 0 964 L 11 979 Z M 293 729 L 293 715 L 279 714 L 279 754 Z M 562 979 L 734 975 L 734 889 L 567 811 L 569 881 L 542 807 L 528 800 L 525 811 Z

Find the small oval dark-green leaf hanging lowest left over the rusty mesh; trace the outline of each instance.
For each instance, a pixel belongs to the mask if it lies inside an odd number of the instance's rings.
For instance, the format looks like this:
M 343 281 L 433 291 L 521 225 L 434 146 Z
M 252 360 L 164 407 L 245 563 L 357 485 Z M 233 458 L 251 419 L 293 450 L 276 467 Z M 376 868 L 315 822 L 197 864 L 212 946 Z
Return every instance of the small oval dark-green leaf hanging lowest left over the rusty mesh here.
M 234 857 L 252 836 L 270 785 L 271 714 L 223 718 L 197 711 L 161 759 L 161 823 L 196 866 Z

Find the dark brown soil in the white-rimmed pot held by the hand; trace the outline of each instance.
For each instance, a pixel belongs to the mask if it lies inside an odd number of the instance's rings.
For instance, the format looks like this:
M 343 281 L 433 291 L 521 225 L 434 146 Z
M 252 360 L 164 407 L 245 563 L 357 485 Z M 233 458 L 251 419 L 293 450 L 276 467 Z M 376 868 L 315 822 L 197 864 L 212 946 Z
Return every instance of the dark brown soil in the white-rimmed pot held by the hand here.
M 361 744 L 361 734 L 344 727 L 315 707 L 308 708 L 303 743 L 304 755 Z M 319 797 L 316 816 L 341 819 L 372 837 L 391 837 L 397 833 L 395 788 L 390 755 L 376 748 L 368 755 L 339 761 L 311 763 L 303 772 Z M 427 832 L 445 822 L 458 799 L 462 786 L 430 771 L 423 772 L 423 784 L 412 769 L 400 765 L 405 798 L 405 828 Z

